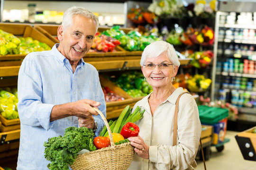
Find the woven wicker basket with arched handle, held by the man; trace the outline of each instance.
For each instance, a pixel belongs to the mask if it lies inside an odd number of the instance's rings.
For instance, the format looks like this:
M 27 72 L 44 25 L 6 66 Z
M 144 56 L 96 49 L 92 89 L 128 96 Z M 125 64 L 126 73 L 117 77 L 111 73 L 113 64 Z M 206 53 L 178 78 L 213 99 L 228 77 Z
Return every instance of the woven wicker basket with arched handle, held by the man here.
M 109 123 L 100 110 L 96 110 L 107 127 L 110 134 L 111 146 L 99 150 L 83 153 L 77 156 L 72 170 L 127 170 L 134 156 L 134 147 L 128 143 L 114 144 Z

